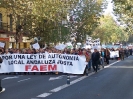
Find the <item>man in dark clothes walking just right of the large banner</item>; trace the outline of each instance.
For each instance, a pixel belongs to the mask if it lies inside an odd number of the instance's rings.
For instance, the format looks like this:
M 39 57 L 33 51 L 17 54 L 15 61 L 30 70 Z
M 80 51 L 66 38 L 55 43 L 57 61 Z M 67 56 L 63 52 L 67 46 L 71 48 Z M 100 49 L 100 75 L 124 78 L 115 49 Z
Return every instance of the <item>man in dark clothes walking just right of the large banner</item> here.
M 92 53 L 92 67 L 95 72 L 98 70 L 98 63 L 100 59 L 100 53 L 97 51 L 97 49 L 94 49 L 94 52 Z

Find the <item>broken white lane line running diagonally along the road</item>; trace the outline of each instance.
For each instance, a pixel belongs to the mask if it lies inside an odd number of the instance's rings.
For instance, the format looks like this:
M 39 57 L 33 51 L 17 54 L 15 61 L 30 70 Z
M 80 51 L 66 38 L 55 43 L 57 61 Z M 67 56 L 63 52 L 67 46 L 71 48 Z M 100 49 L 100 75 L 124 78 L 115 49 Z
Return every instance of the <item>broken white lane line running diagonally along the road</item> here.
M 116 64 L 116 63 L 118 63 L 118 62 L 120 62 L 120 61 L 116 61 L 116 62 L 114 62 L 114 63 L 112 63 L 112 64 L 110 64 L 110 65 L 107 65 L 105 68 L 107 68 L 107 67 L 109 67 L 109 66 L 112 66 L 112 65 L 114 65 L 114 64 Z M 103 70 L 103 69 L 102 69 L 102 70 Z M 79 82 L 79 81 L 82 81 L 83 79 L 85 79 L 85 78 L 87 78 L 87 77 L 89 77 L 89 76 L 91 76 L 91 75 L 93 75 L 93 74 L 95 74 L 95 72 L 91 72 L 91 73 L 88 74 L 88 76 L 82 76 L 82 77 L 80 77 L 80 78 L 78 78 L 78 79 L 76 79 L 76 80 L 71 81 L 71 82 L 70 82 L 70 85 L 64 84 L 64 85 L 62 85 L 62 86 L 59 86 L 59 87 L 57 87 L 57 88 L 54 88 L 54 89 L 50 90 L 49 92 L 58 92 L 58 91 L 60 91 L 60 90 L 62 90 L 62 89 L 64 89 L 64 88 L 67 88 L 67 87 L 69 87 L 69 86 L 71 86 L 71 85 L 73 85 L 73 84 L 75 84 L 75 83 L 77 83 L 77 82 Z M 50 96 L 51 94 L 52 94 L 52 93 L 43 93 L 43 94 L 41 94 L 41 95 L 38 95 L 37 97 L 47 97 L 47 96 Z

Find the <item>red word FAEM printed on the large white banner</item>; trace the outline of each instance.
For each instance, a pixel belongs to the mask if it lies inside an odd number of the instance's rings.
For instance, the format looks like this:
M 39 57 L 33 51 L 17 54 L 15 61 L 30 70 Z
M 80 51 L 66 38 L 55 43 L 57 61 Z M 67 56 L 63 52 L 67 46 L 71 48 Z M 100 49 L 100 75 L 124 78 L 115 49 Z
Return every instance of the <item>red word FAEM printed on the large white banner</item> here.
M 25 65 L 25 71 L 57 71 L 57 65 Z

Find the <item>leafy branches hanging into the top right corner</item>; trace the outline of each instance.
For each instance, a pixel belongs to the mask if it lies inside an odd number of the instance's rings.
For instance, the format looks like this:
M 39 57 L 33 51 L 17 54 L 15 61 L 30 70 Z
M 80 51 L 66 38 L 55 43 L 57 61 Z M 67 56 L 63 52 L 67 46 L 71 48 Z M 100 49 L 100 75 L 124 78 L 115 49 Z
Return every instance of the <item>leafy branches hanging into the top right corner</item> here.
M 113 0 L 114 13 L 121 25 L 125 26 L 125 31 L 133 32 L 133 0 Z

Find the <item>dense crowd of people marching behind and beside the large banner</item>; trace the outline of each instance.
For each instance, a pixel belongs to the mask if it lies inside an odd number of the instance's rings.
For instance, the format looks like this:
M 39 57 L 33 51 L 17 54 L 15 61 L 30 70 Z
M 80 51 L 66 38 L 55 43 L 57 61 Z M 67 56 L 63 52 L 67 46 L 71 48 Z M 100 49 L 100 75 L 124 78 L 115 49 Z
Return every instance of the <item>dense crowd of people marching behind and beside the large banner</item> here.
M 119 51 L 119 57 L 110 58 L 110 51 Z M 57 50 L 55 48 L 40 48 L 38 50 L 36 49 L 4 49 L 0 48 L 1 55 L 8 55 L 8 54 L 41 54 L 41 53 L 60 53 L 60 54 L 71 54 L 71 55 L 80 55 L 86 57 L 86 62 L 88 63 L 86 65 L 86 69 L 88 71 L 93 70 L 94 72 L 97 72 L 99 69 L 99 66 L 108 65 L 110 59 L 121 59 L 124 60 L 125 57 L 128 57 L 129 55 L 132 55 L 132 49 L 128 48 L 118 48 L 118 49 L 108 49 L 108 48 L 102 48 L 101 50 L 98 50 L 97 48 L 94 48 L 93 51 L 91 49 L 85 49 L 85 48 L 79 48 L 79 49 L 64 49 L 64 50 Z M 8 74 L 30 74 L 29 72 L 24 73 L 6 73 Z M 35 72 L 33 73 L 36 74 Z M 40 73 L 42 74 L 58 74 L 56 73 Z M 85 74 L 85 72 L 84 72 Z

